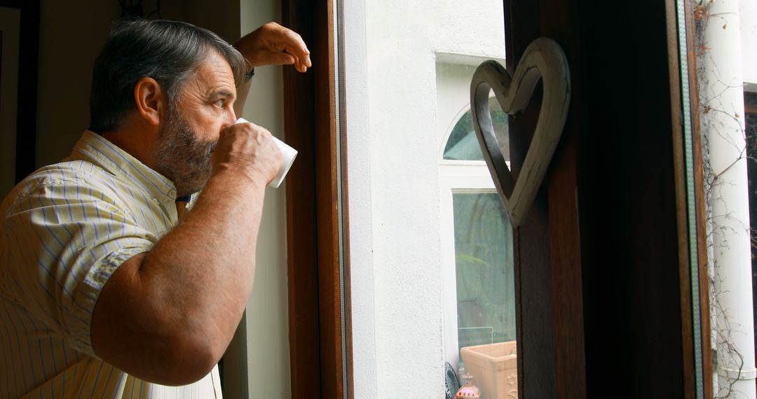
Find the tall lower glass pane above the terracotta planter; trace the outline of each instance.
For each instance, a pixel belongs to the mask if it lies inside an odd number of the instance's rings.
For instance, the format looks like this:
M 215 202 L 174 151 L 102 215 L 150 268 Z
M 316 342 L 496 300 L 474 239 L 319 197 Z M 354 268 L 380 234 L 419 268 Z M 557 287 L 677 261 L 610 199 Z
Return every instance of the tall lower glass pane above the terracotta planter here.
M 453 193 L 453 209 L 458 350 L 513 342 L 512 227 L 505 210 L 497 193 Z M 460 362 L 462 368 L 462 356 Z

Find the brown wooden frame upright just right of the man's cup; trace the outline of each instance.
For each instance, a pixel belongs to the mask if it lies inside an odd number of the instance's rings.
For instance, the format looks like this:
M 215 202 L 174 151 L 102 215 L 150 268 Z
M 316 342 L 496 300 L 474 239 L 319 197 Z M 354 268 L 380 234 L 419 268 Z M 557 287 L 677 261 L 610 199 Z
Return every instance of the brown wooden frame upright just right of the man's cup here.
M 313 61 L 308 73 L 284 71 L 285 136 L 300 151 L 286 193 L 293 398 L 354 396 L 346 119 L 339 101 L 344 93 L 338 91 L 344 84 L 337 75 L 344 69 L 337 65 L 343 57 L 335 46 L 335 23 L 341 26 L 336 1 L 282 2 L 282 22 L 300 33 Z

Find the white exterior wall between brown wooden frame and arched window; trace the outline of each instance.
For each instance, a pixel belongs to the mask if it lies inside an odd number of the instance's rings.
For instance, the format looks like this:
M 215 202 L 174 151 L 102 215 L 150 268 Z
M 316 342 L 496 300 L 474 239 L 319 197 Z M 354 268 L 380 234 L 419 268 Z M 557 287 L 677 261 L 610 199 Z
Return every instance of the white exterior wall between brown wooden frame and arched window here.
M 344 12 L 355 397 L 443 397 L 435 53 L 503 58 L 502 5 Z

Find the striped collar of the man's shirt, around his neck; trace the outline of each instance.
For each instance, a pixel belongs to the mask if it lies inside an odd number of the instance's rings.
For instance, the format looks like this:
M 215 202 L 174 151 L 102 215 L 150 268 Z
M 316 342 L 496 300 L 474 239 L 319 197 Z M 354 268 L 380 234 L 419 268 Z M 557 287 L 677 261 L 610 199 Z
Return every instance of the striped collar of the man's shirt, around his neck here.
M 116 144 L 101 135 L 86 130 L 71 151 L 70 159 L 86 160 L 121 178 L 136 181 L 145 191 L 159 200 L 175 200 L 173 181 L 150 169 Z

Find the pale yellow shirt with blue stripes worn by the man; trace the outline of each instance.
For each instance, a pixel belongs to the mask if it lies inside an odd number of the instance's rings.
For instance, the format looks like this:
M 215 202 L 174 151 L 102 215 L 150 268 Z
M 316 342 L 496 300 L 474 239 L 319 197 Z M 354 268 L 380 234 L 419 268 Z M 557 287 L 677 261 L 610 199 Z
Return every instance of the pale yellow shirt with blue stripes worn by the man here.
M 91 131 L 11 190 L 0 206 L 0 397 L 221 397 L 217 367 L 167 387 L 92 351 L 98 294 L 176 224 L 175 199 L 170 180 Z

